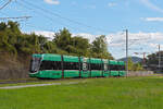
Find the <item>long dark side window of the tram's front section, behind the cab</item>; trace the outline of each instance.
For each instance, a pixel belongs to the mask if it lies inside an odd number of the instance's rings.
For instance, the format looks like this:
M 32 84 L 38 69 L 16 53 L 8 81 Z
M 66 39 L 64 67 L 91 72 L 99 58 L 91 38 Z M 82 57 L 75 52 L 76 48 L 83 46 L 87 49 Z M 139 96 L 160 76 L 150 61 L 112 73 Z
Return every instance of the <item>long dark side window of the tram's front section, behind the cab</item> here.
M 62 70 L 61 61 L 42 61 L 40 70 Z

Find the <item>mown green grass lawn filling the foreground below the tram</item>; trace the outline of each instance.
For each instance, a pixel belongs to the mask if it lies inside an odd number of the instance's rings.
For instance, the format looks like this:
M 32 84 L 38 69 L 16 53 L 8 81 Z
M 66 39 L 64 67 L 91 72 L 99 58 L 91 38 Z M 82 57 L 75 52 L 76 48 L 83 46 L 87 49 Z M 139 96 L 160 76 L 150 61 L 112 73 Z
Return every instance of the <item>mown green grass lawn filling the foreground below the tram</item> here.
M 162 76 L 85 81 L 74 85 L 0 89 L 0 109 L 163 108 Z

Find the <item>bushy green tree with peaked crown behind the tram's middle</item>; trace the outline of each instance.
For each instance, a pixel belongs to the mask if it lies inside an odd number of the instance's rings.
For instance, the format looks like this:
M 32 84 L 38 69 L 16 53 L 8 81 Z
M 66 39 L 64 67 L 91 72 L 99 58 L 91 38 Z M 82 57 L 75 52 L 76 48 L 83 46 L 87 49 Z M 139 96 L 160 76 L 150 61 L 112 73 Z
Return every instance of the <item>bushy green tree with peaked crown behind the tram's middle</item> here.
M 60 29 L 54 35 L 53 43 L 57 46 L 58 53 L 65 53 L 72 56 L 88 56 L 89 41 L 80 36 L 72 37 L 68 29 Z

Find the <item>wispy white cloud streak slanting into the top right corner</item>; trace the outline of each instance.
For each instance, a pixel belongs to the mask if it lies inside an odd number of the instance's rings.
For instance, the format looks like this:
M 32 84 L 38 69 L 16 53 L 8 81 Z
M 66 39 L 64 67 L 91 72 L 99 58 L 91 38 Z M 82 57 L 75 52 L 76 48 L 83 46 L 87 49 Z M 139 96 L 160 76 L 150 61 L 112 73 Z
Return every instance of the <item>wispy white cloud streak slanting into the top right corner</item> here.
M 155 10 L 158 12 L 163 13 L 163 9 L 159 8 L 158 5 L 153 4 L 152 2 L 150 2 L 149 0 L 140 0 L 143 4 L 146 4 L 148 8 Z

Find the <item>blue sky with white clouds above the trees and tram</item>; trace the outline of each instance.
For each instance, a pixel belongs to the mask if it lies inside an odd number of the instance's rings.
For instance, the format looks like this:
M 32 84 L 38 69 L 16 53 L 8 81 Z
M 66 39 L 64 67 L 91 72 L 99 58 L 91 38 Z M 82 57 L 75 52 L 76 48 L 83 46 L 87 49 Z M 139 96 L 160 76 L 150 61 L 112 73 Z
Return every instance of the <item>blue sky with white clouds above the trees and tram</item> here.
M 14 20 L 24 33 L 52 37 L 66 27 L 90 43 L 106 36 L 108 49 L 115 59 L 125 57 L 125 29 L 128 29 L 129 56 L 142 57 L 163 49 L 162 0 L 0 0 L 0 17 Z M 7 22 L 1 20 L 0 22 Z

